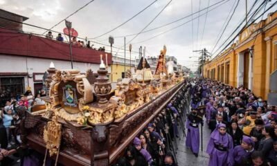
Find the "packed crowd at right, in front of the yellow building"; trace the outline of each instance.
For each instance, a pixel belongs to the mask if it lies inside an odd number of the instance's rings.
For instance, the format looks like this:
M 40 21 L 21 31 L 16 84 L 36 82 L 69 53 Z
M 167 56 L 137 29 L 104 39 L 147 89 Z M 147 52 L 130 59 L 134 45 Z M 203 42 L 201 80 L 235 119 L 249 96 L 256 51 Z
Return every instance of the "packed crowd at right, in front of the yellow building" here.
M 277 107 L 251 90 L 211 80 L 197 80 L 192 109 L 206 106 L 211 138 L 208 165 L 277 165 Z

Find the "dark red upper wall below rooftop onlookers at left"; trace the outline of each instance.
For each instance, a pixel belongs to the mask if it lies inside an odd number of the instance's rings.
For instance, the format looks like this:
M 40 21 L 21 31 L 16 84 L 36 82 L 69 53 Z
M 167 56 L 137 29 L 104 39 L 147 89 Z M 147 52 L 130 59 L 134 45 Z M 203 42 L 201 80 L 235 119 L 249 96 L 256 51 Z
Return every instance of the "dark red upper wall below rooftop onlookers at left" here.
M 60 59 L 70 61 L 69 44 L 46 39 L 35 35 L 15 33 L 0 28 L 0 54 Z M 104 51 L 91 48 L 80 48 L 72 45 L 73 61 L 100 64 L 100 54 Z M 111 54 L 107 53 L 108 64 L 111 64 Z

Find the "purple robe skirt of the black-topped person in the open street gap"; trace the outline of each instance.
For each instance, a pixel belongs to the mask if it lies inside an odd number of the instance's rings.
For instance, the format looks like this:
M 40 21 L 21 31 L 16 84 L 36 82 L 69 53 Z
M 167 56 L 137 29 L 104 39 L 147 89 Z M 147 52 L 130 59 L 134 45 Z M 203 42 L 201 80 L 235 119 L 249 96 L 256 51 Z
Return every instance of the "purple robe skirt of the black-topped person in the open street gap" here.
M 188 133 L 186 136 L 186 147 L 190 148 L 193 153 L 198 154 L 199 152 L 199 128 L 191 127 L 190 120 L 186 121 L 186 128 Z M 199 125 L 199 122 L 197 123 Z M 201 125 L 201 124 L 200 124 Z

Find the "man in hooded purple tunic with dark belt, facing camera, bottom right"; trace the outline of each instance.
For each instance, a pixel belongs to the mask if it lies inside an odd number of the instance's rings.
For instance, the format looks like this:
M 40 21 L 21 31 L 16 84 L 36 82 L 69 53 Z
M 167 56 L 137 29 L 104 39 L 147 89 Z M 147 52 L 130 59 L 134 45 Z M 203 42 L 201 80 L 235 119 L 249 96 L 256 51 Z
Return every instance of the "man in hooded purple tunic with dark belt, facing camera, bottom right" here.
M 233 165 L 233 139 L 226 133 L 225 124 L 218 124 L 211 133 L 206 152 L 210 156 L 209 166 Z

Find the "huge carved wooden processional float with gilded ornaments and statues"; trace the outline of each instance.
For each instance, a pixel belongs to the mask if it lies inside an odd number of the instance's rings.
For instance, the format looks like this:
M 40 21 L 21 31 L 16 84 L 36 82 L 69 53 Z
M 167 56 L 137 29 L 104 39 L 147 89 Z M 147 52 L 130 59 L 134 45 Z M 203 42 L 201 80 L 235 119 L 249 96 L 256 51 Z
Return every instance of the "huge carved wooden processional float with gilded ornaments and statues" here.
M 97 78 L 90 70 L 80 73 L 52 65 L 45 80 L 45 106 L 22 113 L 22 145 L 63 165 L 114 163 L 184 85 L 181 73 L 168 74 L 165 56 L 166 46 L 154 75 L 143 57 L 136 73 L 128 70 L 116 89 L 102 56 Z

